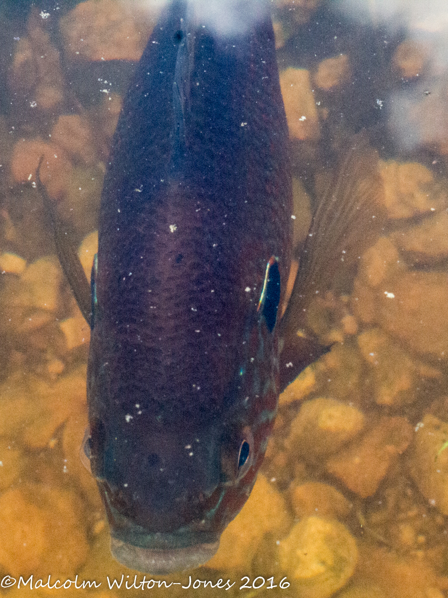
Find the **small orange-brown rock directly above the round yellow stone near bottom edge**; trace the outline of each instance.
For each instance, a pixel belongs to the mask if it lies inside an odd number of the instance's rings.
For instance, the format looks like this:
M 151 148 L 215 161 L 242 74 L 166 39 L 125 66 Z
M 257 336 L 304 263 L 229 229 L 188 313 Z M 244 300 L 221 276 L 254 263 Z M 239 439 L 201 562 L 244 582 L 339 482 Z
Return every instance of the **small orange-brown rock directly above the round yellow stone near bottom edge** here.
M 318 515 L 329 519 L 343 519 L 350 512 L 350 503 L 340 492 L 319 482 L 291 484 L 291 505 L 297 517 Z

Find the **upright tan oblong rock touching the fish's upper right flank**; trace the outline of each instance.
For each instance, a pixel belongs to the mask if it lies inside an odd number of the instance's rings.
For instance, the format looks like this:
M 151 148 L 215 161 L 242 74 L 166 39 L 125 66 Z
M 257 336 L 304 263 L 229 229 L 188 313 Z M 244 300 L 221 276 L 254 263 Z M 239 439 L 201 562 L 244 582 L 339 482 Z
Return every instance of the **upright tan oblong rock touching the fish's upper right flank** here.
M 309 71 L 289 68 L 280 73 L 280 87 L 291 139 L 320 138 L 319 119 Z

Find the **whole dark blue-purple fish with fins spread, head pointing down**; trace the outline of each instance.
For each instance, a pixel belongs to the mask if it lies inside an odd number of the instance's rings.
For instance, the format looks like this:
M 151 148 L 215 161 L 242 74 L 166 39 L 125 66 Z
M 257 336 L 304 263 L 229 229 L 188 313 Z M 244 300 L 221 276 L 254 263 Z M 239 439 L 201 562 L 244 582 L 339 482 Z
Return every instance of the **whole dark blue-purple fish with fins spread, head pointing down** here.
M 119 562 L 169 573 L 216 553 L 256 480 L 280 391 L 325 350 L 303 315 L 373 230 L 376 161 L 355 138 L 278 322 L 292 192 L 271 18 L 218 35 L 186 2 L 165 10 L 113 138 L 91 287 L 54 218 L 92 329 L 84 450 Z

